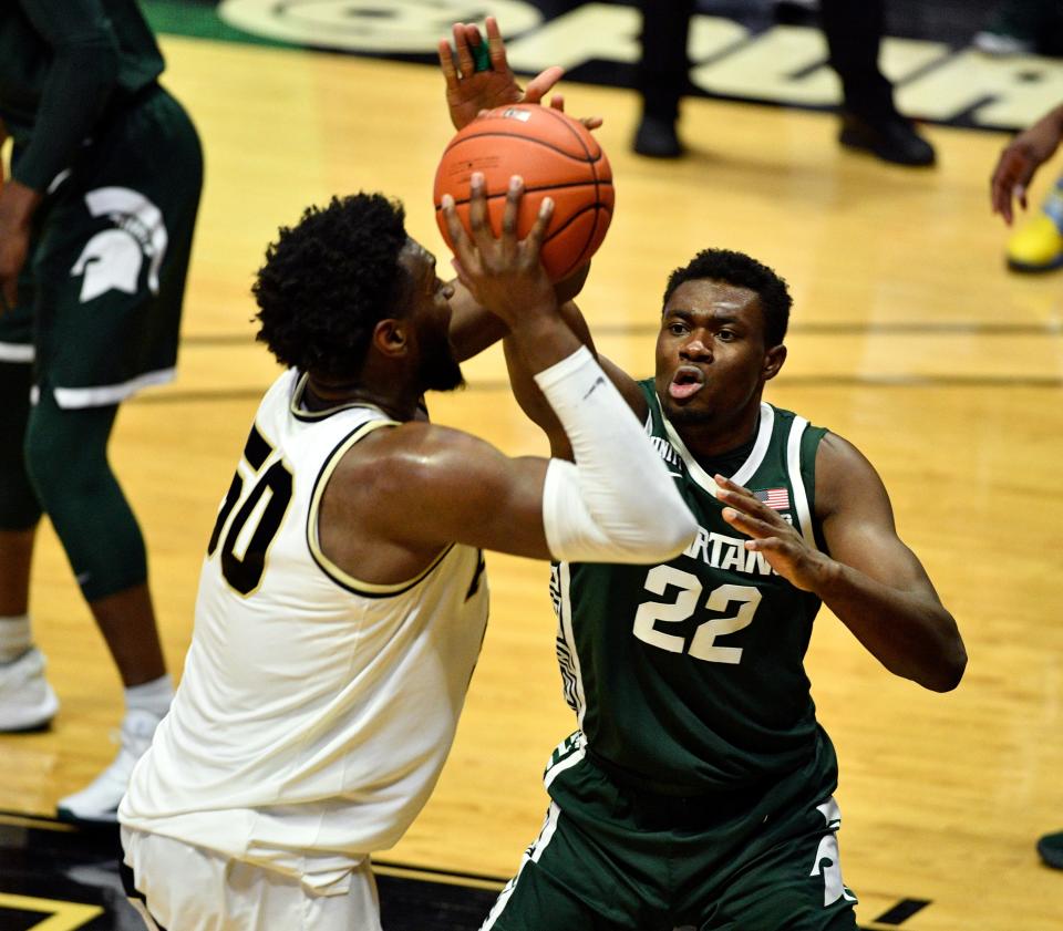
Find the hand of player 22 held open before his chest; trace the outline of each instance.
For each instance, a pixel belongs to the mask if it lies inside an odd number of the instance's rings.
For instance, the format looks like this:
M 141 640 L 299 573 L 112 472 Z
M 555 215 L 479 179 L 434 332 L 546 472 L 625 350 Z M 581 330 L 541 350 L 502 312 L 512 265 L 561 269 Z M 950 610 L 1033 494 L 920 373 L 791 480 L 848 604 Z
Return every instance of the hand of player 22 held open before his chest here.
M 716 498 L 726 507 L 723 519 L 751 539 L 745 548 L 763 552 L 768 565 L 804 591 L 816 591 L 834 560 L 809 547 L 805 538 L 752 492 L 730 478 L 714 475 Z

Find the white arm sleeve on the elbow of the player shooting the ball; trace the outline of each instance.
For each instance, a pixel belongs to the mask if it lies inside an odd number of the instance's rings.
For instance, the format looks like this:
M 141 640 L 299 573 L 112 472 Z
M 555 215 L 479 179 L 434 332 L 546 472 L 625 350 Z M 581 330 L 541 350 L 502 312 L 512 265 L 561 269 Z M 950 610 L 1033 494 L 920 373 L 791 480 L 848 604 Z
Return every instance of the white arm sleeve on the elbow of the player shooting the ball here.
M 620 392 L 586 346 L 535 376 L 576 457 L 551 459 L 543 525 L 556 559 L 656 562 L 698 530 L 675 483 Z

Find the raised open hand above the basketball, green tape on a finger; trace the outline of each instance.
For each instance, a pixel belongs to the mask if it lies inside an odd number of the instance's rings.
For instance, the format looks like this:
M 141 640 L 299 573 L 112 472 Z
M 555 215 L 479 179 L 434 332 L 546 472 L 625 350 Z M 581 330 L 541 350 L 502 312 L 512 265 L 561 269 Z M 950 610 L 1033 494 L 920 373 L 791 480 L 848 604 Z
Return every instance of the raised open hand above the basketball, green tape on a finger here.
M 498 22 L 487 17 L 486 25 L 486 62 L 484 39 L 475 23 L 454 23 L 453 49 L 446 39 L 440 40 L 440 68 L 446 81 L 446 105 L 455 130 L 467 126 L 484 110 L 509 103 L 539 103 L 565 73 L 560 65 L 551 65 L 522 91 L 506 60 Z M 484 62 L 478 70 L 477 59 Z

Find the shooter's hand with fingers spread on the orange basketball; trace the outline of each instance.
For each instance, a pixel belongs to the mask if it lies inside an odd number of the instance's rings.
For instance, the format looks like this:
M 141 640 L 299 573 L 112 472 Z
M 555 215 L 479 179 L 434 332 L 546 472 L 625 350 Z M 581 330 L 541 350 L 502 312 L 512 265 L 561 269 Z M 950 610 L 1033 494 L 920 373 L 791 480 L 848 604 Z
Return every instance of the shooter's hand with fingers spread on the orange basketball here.
M 488 221 L 484 176 L 479 172 L 472 177 L 467 232 L 458 219 L 454 198 L 447 194 L 442 200 L 458 279 L 481 307 L 499 317 L 510 329 L 530 315 L 557 311 L 554 286 L 539 260 L 543 237 L 554 215 L 554 201 L 543 198 L 528 235 L 517 239 L 523 196 L 524 182 L 514 176 L 506 192 L 499 236 L 495 236 Z

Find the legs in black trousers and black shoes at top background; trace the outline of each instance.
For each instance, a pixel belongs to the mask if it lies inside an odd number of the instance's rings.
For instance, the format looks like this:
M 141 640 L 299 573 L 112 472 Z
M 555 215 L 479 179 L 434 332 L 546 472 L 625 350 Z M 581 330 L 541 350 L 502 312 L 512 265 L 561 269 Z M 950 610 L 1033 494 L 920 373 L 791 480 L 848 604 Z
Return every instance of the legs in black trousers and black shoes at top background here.
M 842 80 L 842 127 L 838 141 L 897 165 L 927 166 L 933 147 L 894 104 L 894 89 L 878 66 L 885 0 L 821 0 L 819 20 L 830 52 L 830 66 Z M 687 41 L 695 0 L 661 4 L 640 0 L 642 56 L 637 87 L 642 117 L 633 148 L 654 158 L 683 153 L 675 124 L 689 87 Z

